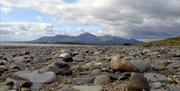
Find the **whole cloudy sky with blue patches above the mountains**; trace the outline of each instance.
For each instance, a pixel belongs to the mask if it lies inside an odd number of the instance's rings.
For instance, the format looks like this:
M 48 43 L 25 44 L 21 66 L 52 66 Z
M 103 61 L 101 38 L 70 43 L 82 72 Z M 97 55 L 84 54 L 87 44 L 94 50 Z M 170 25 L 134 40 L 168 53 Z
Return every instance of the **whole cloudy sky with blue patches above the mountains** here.
M 0 0 L 0 41 L 58 34 L 180 36 L 180 0 Z

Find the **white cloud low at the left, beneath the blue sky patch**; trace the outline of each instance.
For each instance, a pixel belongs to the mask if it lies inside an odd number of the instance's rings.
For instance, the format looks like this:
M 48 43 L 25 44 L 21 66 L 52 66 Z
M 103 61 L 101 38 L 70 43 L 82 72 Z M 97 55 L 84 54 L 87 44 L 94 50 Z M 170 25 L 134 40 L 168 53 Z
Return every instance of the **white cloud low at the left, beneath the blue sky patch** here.
M 2 22 L 0 23 L 0 40 L 30 40 L 40 36 L 54 35 L 54 27 L 48 23 Z

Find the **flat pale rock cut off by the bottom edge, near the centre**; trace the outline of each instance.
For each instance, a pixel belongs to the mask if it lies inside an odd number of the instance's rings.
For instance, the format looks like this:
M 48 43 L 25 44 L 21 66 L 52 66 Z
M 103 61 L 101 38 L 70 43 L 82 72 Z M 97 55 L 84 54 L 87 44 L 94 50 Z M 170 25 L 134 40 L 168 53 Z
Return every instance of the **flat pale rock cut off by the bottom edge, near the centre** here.
M 102 86 L 73 86 L 72 88 L 79 91 L 103 91 Z

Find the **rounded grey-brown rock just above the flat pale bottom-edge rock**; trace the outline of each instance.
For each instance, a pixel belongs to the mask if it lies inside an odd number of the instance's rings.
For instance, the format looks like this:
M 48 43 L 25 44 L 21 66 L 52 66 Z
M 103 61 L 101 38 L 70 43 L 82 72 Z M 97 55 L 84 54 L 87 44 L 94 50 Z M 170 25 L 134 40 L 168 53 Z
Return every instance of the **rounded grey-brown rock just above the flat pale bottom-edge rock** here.
M 104 85 L 111 82 L 108 75 L 99 75 L 94 79 L 94 85 Z

